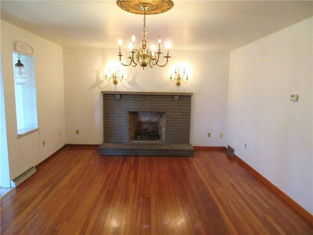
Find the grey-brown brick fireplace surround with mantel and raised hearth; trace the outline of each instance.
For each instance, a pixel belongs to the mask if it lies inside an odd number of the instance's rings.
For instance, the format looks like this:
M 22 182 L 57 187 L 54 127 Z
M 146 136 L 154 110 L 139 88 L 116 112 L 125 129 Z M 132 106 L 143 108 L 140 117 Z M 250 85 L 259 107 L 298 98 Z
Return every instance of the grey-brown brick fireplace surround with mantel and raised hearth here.
M 106 156 L 193 156 L 189 143 L 192 93 L 101 92 Z M 129 112 L 165 113 L 164 141 L 129 141 Z

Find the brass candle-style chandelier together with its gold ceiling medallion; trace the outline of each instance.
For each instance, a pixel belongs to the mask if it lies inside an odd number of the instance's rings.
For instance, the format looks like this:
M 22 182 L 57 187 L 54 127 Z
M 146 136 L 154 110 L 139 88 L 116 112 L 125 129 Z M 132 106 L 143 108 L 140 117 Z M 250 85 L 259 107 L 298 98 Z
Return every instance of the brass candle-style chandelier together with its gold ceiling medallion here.
M 139 64 L 143 69 L 147 67 L 148 65 L 152 68 L 154 65 L 157 65 L 159 67 L 166 66 L 168 62 L 168 58 L 171 58 L 169 56 L 169 48 L 171 47 L 170 42 L 166 43 L 166 55 L 163 56 L 165 58 L 165 63 L 163 65 L 159 64 L 160 54 L 163 54 L 161 52 L 161 37 L 158 37 L 157 43 L 158 48 L 156 50 L 156 47 L 152 46 L 151 48 L 147 48 L 148 41 L 146 40 L 146 15 L 153 15 L 153 14 L 159 14 L 166 12 L 170 10 L 174 3 L 172 0 L 117 0 L 116 4 L 123 10 L 134 13 L 134 14 L 143 14 L 143 31 L 142 31 L 142 40 L 141 44 L 138 49 L 134 48 L 135 43 L 135 37 L 133 35 L 132 37 L 132 43 L 130 44 L 130 56 L 127 57 L 129 59 L 129 62 L 127 64 L 124 64 L 122 62 L 122 52 L 121 52 L 121 45 L 122 40 L 118 40 L 118 56 L 119 61 L 124 66 L 130 66 L 133 67 L 137 66 Z

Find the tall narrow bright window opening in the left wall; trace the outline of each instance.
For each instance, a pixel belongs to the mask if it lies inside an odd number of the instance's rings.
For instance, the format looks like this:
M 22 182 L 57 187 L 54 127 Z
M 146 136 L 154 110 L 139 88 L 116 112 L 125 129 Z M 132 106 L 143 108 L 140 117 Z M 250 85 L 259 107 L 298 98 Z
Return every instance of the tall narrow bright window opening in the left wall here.
M 38 129 L 34 58 L 13 53 L 13 67 L 18 59 L 24 65 L 24 76 L 14 74 L 15 107 L 18 137 Z

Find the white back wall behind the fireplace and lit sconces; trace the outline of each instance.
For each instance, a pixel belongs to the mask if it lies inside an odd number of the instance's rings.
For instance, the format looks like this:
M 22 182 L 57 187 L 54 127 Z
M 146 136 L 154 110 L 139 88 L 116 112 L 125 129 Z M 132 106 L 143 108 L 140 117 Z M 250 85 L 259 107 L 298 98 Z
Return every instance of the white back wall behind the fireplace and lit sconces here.
M 97 70 L 118 61 L 118 48 L 63 49 L 67 143 L 103 142 L 101 91 L 115 91 L 112 82 Z M 229 52 L 170 51 L 172 58 L 164 68 L 124 67 L 124 80 L 116 91 L 193 93 L 190 142 L 194 146 L 224 146 L 227 105 Z M 125 59 L 126 56 L 123 56 Z M 187 63 L 192 71 L 188 82 L 178 87 L 170 82 L 173 66 Z M 80 130 L 76 135 L 75 130 Z M 207 138 L 207 132 L 212 133 Z

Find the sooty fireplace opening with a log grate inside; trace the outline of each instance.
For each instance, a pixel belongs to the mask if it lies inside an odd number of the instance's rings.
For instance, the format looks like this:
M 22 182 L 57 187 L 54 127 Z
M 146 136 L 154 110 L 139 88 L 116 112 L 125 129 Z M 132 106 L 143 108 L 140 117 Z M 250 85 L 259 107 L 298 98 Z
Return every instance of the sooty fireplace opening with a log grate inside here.
M 165 113 L 128 112 L 129 141 L 164 141 Z

